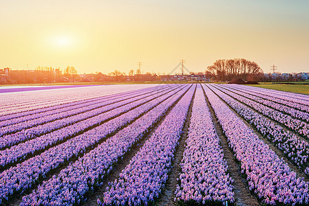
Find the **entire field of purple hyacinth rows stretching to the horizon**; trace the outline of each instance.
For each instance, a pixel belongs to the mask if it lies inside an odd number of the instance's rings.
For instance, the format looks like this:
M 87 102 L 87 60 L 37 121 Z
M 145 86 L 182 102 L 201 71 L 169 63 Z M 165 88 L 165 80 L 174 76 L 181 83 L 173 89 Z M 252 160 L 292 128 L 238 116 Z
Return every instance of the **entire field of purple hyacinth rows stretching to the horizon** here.
M 309 205 L 309 95 L 130 84 L 0 102 L 0 205 Z

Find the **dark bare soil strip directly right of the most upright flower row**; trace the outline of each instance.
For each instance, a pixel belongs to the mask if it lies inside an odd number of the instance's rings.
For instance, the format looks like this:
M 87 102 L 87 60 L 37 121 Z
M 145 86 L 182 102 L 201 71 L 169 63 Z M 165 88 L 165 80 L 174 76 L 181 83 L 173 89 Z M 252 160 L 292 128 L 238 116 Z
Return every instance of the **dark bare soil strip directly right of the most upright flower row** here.
M 203 89 L 204 90 L 204 89 Z M 232 150 L 228 147 L 228 141 L 223 134 L 222 127 L 217 122 L 217 117 L 215 116 L 215 112 L 209 103 L 208 98 L 206 97 L 206 93 L 204 92 L 207 105 L 209 106 L 209 111 L 211 112 L 211 117 L 213 118 L 213 124 L 215 129 L 217 130 L 217 135 L 220 138 L 221 146 L 224 151 L 224 159 L 228 164 L 228 173 L 233 178 L 233 186 L 235 192 L 235 201 L 236 205 L 260 205 L 257 201 L 257 198 L 251 194 L 248 188 L 248 181 L 242 174 L 241 168 L 237 160 L 235 159 Z

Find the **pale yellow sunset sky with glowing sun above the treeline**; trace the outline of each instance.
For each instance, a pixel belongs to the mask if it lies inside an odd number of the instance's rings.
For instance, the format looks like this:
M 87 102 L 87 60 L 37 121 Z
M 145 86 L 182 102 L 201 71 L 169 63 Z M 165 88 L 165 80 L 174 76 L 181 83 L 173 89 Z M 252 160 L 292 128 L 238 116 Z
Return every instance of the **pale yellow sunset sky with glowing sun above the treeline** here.
M 193 72 L 221 58 L 309 71 L 308 0 L 0 1 L 0 69 Z

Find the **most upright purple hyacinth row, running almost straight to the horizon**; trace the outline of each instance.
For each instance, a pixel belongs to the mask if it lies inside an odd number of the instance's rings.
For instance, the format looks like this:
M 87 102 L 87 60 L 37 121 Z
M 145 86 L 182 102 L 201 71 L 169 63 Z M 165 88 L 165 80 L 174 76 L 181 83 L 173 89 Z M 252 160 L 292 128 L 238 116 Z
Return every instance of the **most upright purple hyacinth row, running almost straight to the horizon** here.
M 233 180 L 227 172 L 220 139 L 200 85 L 195 93 L 186 143 L 175 201 L 181 202 L 180 205 L 233 203 Z

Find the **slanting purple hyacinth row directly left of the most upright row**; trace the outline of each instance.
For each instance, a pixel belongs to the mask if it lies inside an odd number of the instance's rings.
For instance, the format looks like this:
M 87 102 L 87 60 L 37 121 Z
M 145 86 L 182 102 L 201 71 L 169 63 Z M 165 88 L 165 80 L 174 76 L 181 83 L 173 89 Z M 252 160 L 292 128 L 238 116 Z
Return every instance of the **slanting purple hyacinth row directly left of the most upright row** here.
M 195 87 L 191 87 L 119 174 L 109 183 L 99 205 L 147 205 L 167 181 L 175 148 L 187 119 Z

